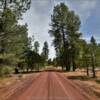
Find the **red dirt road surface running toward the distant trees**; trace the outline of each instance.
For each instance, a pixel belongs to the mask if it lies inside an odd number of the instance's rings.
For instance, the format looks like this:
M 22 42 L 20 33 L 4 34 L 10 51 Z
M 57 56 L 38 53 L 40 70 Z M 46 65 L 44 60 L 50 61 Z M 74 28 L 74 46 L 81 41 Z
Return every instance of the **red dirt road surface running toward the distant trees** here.
M 91 89 L 59 72 L 41 72 L 26 87 L 14 92 L 7 100 L 100 100 Z

